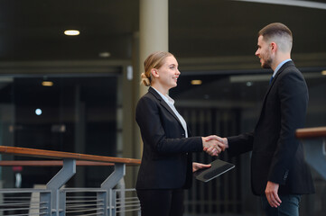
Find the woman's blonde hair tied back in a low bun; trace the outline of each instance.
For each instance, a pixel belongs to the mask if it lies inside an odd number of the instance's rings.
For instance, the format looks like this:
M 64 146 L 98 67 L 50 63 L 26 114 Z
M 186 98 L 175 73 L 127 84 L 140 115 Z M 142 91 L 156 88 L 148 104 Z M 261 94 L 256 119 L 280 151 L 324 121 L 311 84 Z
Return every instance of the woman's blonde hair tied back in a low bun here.
M 141 74 L 141 84 L 150 86 L 153 81 L 152 69 L 159 69 L 163 66 L 165 58 L 173 56 L 172 53 L 167 51 L 156 51 L 149 55 L 144 60 L 144 72 Z

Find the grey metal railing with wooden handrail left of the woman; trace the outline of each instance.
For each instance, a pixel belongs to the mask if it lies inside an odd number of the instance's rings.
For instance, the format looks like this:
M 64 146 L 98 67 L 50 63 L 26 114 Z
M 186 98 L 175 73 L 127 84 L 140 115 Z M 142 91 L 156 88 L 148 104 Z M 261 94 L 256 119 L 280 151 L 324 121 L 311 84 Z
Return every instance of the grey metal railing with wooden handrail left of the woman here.
M 42 189 L 0 189 L 0 215 L 123 216 L 126 211 L 136 211 L 139 214 L 140 204 L 135 189 L 114 187 L 126 175 L 126 166 L 138 166 L 140 160 L 5 146 L 0 146 L 0 153 L 62 160 L 0 161 L 0 166 L 62 165 L 61 170 Z M 115 166 L 115 170 L 98 188 L 64 188 L 64 184 L 75 175 L 77 165 Z

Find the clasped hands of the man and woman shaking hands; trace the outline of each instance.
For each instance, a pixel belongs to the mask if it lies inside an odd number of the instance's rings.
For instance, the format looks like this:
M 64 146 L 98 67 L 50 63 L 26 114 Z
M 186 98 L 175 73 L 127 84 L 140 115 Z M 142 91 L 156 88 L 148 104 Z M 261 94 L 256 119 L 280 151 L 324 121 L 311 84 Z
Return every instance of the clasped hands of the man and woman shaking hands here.
M 203 150 L 210 156 L 219 156 L 221 151 L 228 148 L 228 139 L 220 138 L 216 135 L 201 137 Z

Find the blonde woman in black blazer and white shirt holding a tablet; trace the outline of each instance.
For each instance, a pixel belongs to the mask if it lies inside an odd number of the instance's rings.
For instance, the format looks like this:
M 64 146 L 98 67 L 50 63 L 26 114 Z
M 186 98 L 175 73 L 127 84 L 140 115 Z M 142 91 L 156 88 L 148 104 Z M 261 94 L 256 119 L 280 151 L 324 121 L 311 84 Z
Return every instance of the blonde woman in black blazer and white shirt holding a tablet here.
M 192 163 L 191 152 L 205 148 L 216 156 L 224 148 L 215 136 L 190 137 L 186 121 L 168 95 L 179 76 L 178 62 L 169 52 L 155 52 L 144 61 L 142 83 L 150 87 L 135 111 L 144 142 L 135 185 L 142 216 L 181 216 L 183 189 L 191 186 L 192 172 L 210 166 Z

